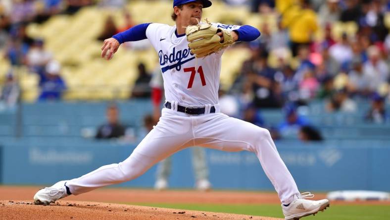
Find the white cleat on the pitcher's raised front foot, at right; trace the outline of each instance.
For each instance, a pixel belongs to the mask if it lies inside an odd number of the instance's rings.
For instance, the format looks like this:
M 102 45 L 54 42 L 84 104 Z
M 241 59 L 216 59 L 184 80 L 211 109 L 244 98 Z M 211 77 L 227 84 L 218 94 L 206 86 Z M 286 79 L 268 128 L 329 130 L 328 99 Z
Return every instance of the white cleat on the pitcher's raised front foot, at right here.
M 301 193 L 299 196 L 294 196 L 294 200 L 289 206 L 282 204 L 285 220 L 299 220 L 302 217 L 315 215 L 319 211 L 324 211 L 329 207 L 329 200 L 322 199 L 318 201 L 307 200 L 305 198 L 313 198 L 314 195 L 310 192 Z

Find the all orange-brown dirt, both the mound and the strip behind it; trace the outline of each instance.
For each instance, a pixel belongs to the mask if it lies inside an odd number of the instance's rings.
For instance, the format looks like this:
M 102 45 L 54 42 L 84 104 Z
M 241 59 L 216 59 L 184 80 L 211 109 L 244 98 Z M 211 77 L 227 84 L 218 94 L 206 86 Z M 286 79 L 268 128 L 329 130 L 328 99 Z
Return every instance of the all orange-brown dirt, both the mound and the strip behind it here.
M 105 188 L 78 196 L 69 196 L 50 206 L 37 206 L 33 205 L 32 198 L 39 189 L 40 187 L 37 186 L 0 186 L 0 219 L 281 220 L 269 217 L 118 204 L 258 204 L 261 206 L 261 204 L 280 204 L 276 193 L 238 191 L 199 192 L 180 190 L 159 192 L 146 189 Z M 325 198 L 325 194 L 316 194 L 315 198 Z M 370 204 L 375 203 L 376 202 L 370 202 Z M 378 203 L 390 204 L 389 202 Z M 336 202 L 336 204 L 343 203 Z M 358 204 L 365 203 L 358 202 Z

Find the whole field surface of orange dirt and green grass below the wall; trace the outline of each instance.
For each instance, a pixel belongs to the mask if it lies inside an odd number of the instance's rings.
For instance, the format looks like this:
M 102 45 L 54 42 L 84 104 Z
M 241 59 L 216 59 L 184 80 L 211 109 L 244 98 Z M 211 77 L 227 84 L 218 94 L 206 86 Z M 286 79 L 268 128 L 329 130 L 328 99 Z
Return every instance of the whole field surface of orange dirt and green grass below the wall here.
M 50 206 L 33 205 L 40 186 L 0 186 L 0 219 L 280 220 L 276 193 L 259 191 L 104 188 L 69 196 Z M 326 197 L 316 193 L 316 199 Z M 305 220 L 389 220 L 390 202 L 331 202 Z

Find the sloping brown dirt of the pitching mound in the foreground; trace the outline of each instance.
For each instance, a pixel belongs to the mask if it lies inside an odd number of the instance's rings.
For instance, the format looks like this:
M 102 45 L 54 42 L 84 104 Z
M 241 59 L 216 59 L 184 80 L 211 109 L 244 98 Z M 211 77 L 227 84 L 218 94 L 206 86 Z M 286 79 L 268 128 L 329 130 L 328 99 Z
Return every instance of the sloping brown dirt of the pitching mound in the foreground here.
M 0 201 L 0 219 L 7 220 L 281 220 L 227 213 L 163 209 L 80 201 L 37 206 L 32 201 Z

